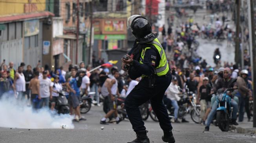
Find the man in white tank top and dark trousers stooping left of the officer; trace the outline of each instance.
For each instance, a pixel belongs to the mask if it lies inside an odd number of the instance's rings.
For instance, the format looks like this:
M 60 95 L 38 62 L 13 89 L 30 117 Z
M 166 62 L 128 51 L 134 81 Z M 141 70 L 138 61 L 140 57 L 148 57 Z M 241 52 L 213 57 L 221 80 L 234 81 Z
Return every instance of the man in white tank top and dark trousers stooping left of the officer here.
M 108 101 L 109 101 L 109 109 L 110 111 L 108 111 L 108 113 L 106 114 L 106 116 L 104 116 L 102 119 L 101 119 L 101 124 L 108 124 L 106 122 L 106 119 L 109 118 L 113 113 L 115 114 L 115 119 L 116 119 L 116 122 L 119 123 L 121 120 L 119 119 L 119 117 L 117 116 L 117 96 L 119 97 L 120 94 L 117 90 L 117 78 L 119 77 L 119 72 L 118 71 L 115 71 L 114 72 L 114 79 L 111 79 L 111 80 L 108 80 L 107 82 L 105 81 L 105 85 L 103 86 L 106 86 L 107 89 L 108 89 Z

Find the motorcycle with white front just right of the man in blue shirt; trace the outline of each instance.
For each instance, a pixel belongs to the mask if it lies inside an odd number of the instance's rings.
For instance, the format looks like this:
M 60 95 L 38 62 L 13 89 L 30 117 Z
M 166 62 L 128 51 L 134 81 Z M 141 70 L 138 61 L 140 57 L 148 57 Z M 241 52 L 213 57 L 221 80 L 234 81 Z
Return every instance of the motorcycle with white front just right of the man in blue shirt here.
M 90 111 L 92 102 L 91 97 L 94 94 L 95 92 L 89 92 L 88 95 L 83 95 L 81 97 L 82 103 L 80 104 L 80 113 L 85 114 Z

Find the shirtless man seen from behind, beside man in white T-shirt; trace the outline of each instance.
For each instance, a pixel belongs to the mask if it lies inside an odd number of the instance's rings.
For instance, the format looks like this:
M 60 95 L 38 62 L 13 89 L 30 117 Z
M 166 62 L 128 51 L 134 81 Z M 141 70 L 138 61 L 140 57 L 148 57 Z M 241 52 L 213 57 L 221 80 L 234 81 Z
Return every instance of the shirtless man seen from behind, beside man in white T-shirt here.
M 34 72 L 34 78 L 30 80 L 29 82 L 29 89 L 31 89 L 31 105 L 34 109 L 36 109 L 38 107 L 38 102 L 33 102 L 33 100 L 35 98 L 38 97 L 38 99 L 40 100 L 41 99 L 41 96 L 40 96 L 40 92 L 39 92 L 39 89 L 40 89 L 40 84 L 39 84 L 39 80 L 38 80 L 38 77 L 39 77 L 39 71 L 35 71 Z

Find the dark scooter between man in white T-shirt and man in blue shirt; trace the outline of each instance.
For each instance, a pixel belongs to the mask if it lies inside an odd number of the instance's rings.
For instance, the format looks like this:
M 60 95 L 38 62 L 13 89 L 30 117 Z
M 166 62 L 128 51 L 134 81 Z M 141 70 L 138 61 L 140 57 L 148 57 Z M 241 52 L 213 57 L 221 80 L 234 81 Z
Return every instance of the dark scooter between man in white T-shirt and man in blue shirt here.
M 62 90 L 59 93 L 59 97 L 57 97 L 57 102 L 55 103 L 55 109 L 58 111 L 58 114 L 69 114 L 69 105 L 68 99 L 66 95 L 69 93 Z M 51 102 L 49 102 L 49 107 L 51 108 Z

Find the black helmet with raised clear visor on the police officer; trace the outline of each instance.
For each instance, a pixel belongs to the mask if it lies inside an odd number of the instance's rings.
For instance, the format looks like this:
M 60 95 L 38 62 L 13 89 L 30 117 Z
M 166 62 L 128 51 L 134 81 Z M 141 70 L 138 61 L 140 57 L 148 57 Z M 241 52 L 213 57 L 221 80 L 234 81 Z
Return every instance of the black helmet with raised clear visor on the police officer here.
M 152 33 L 152 27 L 146 18 L 140 15 L 133 15 L 128 18 L 127 27 L 131 29 L 133 36 L 138 41 L 143 41 L 150 39 L 152 41 L 152 36 L 155 37 L 155 34 Z

